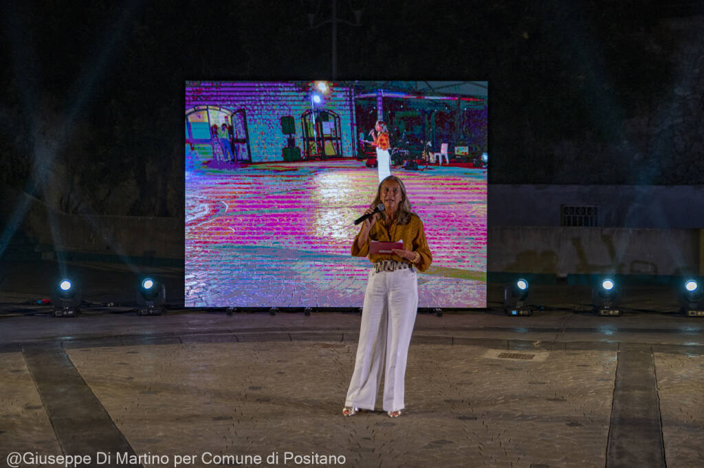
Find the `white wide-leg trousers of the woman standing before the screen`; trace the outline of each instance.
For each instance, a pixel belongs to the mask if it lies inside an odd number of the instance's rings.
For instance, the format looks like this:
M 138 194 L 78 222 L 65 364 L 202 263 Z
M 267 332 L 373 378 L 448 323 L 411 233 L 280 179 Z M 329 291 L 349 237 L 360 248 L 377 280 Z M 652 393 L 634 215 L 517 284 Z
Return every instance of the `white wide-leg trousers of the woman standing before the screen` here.
M 403 410 L 408 345 L 418 308 L 415 269 L 372 270 L 362 308 L 357 358 L 345 406 L 374 410 L 384 369 L 384 411 Z

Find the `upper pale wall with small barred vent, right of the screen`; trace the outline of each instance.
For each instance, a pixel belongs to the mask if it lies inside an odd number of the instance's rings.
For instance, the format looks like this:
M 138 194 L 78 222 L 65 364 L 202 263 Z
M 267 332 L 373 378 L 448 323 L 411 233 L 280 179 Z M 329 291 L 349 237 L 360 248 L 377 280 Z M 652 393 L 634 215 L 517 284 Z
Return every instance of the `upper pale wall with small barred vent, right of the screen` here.
M 489 226 L 559 226 L 561 205 L 597 205 L 599 227 L 704 228 L 703 185 L 489 184 Z

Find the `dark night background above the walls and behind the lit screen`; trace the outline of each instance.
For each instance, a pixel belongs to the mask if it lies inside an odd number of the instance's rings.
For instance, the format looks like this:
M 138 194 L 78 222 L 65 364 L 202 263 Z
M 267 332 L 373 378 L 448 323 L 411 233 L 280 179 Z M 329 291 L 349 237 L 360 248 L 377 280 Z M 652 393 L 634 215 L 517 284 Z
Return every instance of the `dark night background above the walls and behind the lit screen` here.
M 5 4 L 1 184 L 183 217 L 184 81 L 329 78 L 330 3 Z M 704 2 L 570 3 L 338 0 L 338 79 L 489 80 L 492 184 L 703 184 Z

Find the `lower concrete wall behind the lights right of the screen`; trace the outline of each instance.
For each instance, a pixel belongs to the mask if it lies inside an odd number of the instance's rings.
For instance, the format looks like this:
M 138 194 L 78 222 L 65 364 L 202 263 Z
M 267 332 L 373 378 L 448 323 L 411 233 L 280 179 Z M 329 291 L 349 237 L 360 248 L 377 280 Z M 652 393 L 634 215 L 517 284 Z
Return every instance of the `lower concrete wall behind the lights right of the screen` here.
M 489 272 L 704 274 L 698 229 L 494 226 Z

